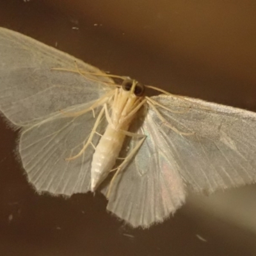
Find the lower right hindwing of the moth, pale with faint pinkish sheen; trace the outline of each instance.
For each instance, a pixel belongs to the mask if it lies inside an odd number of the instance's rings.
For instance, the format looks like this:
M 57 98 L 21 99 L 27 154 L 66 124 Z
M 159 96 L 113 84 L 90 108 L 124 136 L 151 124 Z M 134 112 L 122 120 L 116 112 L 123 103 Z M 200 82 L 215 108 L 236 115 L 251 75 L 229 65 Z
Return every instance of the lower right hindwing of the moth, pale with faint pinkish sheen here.
M 132 227 L 146 228 L 175 212 L 184 203 L 185 191 L 168 144 L 150 113 L 145 116 L 143 125 L 139 123 L 135 120 L 131 131 L 147 138 L 127 167 L 117 175 L 107 209 Z M 140 139 L 131 138 L 126 155 Z

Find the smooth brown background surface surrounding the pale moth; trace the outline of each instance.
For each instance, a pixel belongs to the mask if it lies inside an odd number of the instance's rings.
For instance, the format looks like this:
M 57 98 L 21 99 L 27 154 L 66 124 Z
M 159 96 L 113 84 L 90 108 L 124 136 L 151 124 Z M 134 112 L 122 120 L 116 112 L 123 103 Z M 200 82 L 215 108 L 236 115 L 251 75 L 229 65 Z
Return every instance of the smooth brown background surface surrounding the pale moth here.
M 256 111 L 254 0 L 0 0 L 0 26 L 112 74 Z M 0 129 L 0 255 L 256 255 L 256 231 L 217 208 L 204 212 L 204 203 L 133 230 L 106 212 L 100 194 L 38 195 L 13 154 L 17 132 L 3 121 Z M 244 211 L 256 216 L 256 193 L 246 195 Z M 230 216 L 243 207 L 234 205 Z

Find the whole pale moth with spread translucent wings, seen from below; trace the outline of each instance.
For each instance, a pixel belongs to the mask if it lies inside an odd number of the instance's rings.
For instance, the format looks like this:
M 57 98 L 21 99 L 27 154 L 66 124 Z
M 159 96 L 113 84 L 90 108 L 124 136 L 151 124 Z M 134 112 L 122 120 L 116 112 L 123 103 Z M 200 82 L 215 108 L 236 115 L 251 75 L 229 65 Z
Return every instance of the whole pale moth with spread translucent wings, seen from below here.
M 186 191 L 256 180 L 256 113 L 115 84 L 81 60 L 0 29 L 0 109 L 20 129 L 19 154 L 38 192 L 101 191 L 132 227 L 162 222 Z M 144 92 L 145 91 L 145 92 Z

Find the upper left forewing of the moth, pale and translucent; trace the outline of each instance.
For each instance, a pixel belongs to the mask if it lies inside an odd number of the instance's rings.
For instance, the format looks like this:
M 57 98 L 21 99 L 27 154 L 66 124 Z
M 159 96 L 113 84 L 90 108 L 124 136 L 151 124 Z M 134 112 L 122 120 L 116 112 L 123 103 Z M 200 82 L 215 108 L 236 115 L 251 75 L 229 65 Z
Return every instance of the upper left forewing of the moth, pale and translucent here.
M 0 28 L 0 109 L 16 125 L 39 122 L 60 109 L 98 99 L 113 83 L 76 58 L 28 36 Z M 65 68 L 74 72 L 52 70 Z

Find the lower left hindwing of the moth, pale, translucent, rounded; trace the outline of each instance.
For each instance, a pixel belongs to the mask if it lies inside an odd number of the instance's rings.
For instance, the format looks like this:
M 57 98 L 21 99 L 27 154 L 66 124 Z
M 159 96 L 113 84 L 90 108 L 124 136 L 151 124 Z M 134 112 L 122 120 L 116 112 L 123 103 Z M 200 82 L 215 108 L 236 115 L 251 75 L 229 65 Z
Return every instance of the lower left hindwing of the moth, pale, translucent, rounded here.
M 91 106 L 81 104 L 58 113 L 43 122 L 29 127 L 20 137 L 19 152 L 28 180 L 37 191 L 47 191 L 53 195 L 86 193 L 90 190 L 90 167 L 94 148 L 89 145 L 82 156 L 74 160 L 86 143 L 95 123 L 92 111 L 80 116 L 68 116 Z M 95 116 L 99 108 L 95 109 Z M 106 120 L 102 119 L 97 132 L 102 133 Z M 97 145 L 100 136 L 93 136 Z

